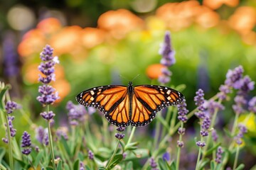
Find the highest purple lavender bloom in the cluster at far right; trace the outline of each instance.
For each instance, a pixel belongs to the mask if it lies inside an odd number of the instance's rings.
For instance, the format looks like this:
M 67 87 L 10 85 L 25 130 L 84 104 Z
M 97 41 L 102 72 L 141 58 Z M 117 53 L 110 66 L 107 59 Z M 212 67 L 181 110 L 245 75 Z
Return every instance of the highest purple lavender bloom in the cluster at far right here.
M 228 70 L 228 73 L 226 74 L 225 84 L 228 86 L 232 86 L 236 88 L 239 84 L 239 80 L 242 78 L 242 73 L 244 72 L 244 69 L 242 66 L 238 66 L 235 69 Z

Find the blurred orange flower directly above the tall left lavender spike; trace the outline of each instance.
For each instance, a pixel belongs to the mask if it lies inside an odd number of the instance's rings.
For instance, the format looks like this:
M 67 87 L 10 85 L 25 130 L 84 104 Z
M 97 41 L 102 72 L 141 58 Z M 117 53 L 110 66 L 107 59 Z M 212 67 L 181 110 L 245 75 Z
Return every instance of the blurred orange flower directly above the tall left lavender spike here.
M 44 34 L 56 33 L 61 27 L 60 21 L 56 18 L 46 18 L 37 25 L 37 28 Z

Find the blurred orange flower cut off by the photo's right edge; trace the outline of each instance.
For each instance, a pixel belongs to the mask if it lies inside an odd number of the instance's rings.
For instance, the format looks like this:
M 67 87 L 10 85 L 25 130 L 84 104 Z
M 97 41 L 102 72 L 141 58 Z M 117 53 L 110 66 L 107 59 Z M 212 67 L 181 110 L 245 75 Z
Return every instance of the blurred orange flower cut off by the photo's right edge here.
M 237 8 L 235 13 L 229 18 L 229 25 L 238 33 L 244 35 L 250 33 L 256 24 L 256 10 L 250 6 Z

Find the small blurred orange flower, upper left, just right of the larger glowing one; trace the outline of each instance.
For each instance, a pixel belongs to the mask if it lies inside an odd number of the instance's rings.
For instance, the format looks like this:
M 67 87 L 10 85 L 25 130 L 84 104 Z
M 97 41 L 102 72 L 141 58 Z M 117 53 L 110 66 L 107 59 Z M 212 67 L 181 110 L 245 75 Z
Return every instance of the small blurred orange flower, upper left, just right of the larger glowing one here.
M 105 40 L 105 31 L 99 28 L 84 28 L 82 30 L 82 45 L 87 48 L 100 45 Z

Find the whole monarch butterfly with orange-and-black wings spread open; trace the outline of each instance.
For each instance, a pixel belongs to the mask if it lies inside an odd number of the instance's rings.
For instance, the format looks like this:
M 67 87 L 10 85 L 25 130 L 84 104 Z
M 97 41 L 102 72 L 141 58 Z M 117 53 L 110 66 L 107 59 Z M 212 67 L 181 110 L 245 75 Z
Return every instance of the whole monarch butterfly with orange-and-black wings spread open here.
M 82 91 L 76 100 L 84 106 L 99 109 L 116 126 L 144 126 L 155 118 L 156 112 L 183 101 L 184 96 L 166 86 L 109 85 Z

